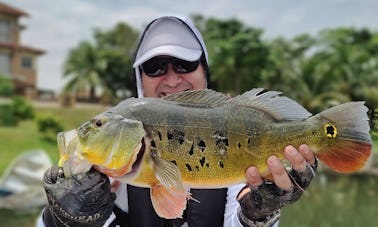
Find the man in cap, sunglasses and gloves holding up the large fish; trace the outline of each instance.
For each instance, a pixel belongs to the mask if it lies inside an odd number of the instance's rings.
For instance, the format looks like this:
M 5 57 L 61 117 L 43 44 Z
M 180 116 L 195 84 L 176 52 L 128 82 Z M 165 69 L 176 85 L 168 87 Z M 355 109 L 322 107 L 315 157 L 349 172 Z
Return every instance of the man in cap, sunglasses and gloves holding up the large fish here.
M 168 16 L 148 24 L 133 67 L 139 98 L 162 98 L 208 87 L 207 50 L 189 19 Z M 316 169 L 316 159 L 306 145 L 298 150 L 288 146 L 284 153 L 292 164 L 290 175 L 280 160 L 271 156 L 267 164 L 273 181 L 263 180 L 251 166 L 246 171 L 247 184 L 224 189 L 191 189 L 192 197 L 200 203 L 188 201 L 183 219 L 176 220 L 157 216 L 148 188 L 113 182 L 116 193 L 113 209 L 114 196 L 105 176 L 91 170 L 69 181 L 59 178 L 57 170 L 52 168 L 45 175 L 49 206 L 44 211 L 43 222 L 45 226 L 270 226 L 277 223 L 281 207 L 300 197 Z M 53 197 L 56 193 L 51 192 L 59 187 L 72 190 L 65 190 L 65 195 L 59 198 Z

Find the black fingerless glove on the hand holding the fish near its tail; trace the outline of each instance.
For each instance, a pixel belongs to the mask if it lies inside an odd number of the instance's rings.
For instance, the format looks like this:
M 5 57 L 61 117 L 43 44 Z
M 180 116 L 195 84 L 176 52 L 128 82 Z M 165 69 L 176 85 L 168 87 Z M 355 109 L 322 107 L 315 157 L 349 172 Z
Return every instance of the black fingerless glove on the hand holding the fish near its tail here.
M 317 160 L 313 165 L 308 164 L 303 171 L 290 170 L 289 176 L 293 182 L 291 190 L 286 191 L 277 187 L 271 181 L 264 181 L 259 186 L 250 187 L 251 191 L 239 199 L 239 220 L 245 226 L 259 226 L 256 223 L 267 223 L 270 218 L 279 218 L 279 209 L 297 201 L 303 191 L 309 186 L 317 169 Z M 250 223 L 248 223 L 250 221 Z M 274 221 L 274 222 L 275 222 Z M 274 224 L 269 222 L 269 224 Z M 251 225 L 253 223 L 254 225 Z M 268 225 L 269 226 L 269 225 Z

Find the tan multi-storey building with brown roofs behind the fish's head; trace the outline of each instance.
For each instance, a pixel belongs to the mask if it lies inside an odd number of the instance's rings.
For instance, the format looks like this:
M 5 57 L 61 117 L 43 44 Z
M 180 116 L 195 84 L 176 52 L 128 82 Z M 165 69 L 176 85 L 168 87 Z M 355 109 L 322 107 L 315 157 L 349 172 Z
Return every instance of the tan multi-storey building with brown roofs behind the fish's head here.
M 29 14 L 0 2 L 0 75 L 13 81 L 16 94 L 35 99 L 36 63 L 44 51 L 21 44 L 21 31 L 25 29 L 19 22 L 21 17 Z

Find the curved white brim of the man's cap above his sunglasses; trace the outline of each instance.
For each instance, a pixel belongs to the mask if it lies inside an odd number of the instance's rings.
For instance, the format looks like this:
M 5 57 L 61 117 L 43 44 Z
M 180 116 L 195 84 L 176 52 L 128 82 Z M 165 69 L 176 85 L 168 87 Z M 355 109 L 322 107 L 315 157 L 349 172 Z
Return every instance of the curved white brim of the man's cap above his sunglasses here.
M 145 61 L 160 55 L 169 55 L 186 61 L 195 61 L 201 57 L 202 50 L 188 49 L 180 46 L 160 46 L 147 51 L 134 62 L 133 67 L 141 65 Z

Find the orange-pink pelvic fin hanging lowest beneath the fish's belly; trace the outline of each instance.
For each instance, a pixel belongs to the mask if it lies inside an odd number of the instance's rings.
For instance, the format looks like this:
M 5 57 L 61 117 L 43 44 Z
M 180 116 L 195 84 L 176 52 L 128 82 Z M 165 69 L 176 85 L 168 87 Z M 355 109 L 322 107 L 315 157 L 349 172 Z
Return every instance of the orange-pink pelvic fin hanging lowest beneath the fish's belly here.
M 167 188 L 161 184 L 151 186 L 151 201 L 156 213 L 166 219 L 182 218 L 186 208 L 186 190 Z

